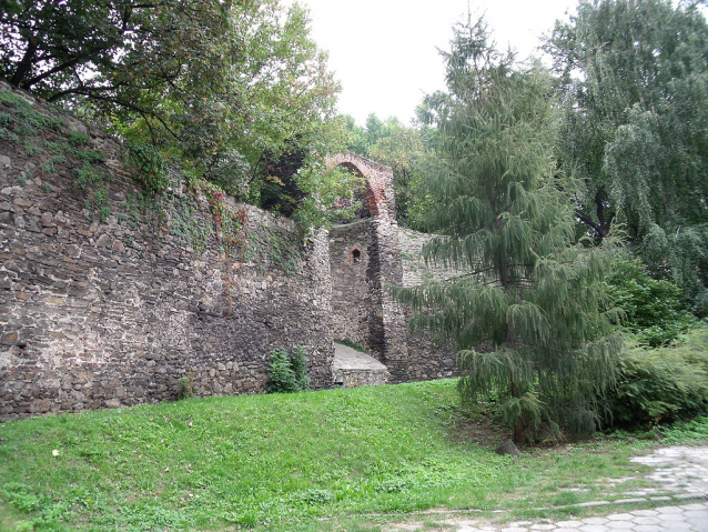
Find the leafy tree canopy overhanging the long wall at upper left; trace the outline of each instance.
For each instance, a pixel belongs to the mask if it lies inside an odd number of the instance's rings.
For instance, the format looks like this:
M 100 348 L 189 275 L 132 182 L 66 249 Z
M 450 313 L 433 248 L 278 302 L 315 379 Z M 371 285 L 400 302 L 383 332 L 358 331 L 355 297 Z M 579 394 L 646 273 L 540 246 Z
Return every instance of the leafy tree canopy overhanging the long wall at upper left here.
M 9 0 L 0 77 L 150 141 L 191 174 L 259 203 L 265 159 L 340 192 L 324 157 L 345 139 L 337 83 L 307 12 L 279 0 Z M 346 183 L 344 183 L 346 184 Z M 303 202 L 314 208 L 316 201 Z M 322 211 L 322 210 L 321 210 Z

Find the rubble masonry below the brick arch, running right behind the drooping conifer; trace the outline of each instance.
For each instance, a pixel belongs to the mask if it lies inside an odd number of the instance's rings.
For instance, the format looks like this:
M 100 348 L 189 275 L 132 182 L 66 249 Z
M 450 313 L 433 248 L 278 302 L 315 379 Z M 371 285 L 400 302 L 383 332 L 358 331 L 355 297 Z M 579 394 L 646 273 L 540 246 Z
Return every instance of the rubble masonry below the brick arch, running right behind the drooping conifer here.
M 397 234 L 399 247 L 386 248 L 392 239 L 387 238 L 388 233 L 382 237 L 382 231 Z M 448 274 L 427 268 L 419 259 L 423 243 L 431 238 L 397 225 L 376 227 L 372 220 L 336 225 L 330 231 L 334 337 L 364 347 L 388 368 L 391 382 L 454 375 L 452 351 L 433 349 L 429 334 L 411 333 L 406 327 L 411 311 L 393 301 L 387 288 L 390 284 L 413 287 L 424 279 Z M 352 261 L 354 249 L 361 250 L 360 262 Z M 398 257 L 401 265 L 396 271 L 394 262 Z M 382 268 L 392 270 L 393 275 L 376 278 Z M 395 274 L 399 275 L 397 282 L 394 282 Z

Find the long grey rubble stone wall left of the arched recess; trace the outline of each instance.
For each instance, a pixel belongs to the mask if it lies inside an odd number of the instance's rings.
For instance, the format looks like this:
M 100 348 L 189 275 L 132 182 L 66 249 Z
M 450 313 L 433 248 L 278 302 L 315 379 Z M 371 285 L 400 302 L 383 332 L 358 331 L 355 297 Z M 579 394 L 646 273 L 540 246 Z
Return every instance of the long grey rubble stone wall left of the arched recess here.
M 112 175 L 110 214 L 88 204 L 80 161 L 50 167 L 48 153 L 0 139 L 0 421 L 173 400 L 182 378 L 198 395 L 264 392 L 270 351 L 296 344 L 310 347 L 313 387 L 332 385 L 326 232 L 304 238 L 231 202 L 244 241 L 225 252 L 204 198 L 191 221 L 179 213 L 192 192 L 176 180 L 151 208 L 131 207 L 141 189 L 120 142 L 62 118 L 40 140 L 89 133 Z M 202 228 L 203 249 L 185 223 Z

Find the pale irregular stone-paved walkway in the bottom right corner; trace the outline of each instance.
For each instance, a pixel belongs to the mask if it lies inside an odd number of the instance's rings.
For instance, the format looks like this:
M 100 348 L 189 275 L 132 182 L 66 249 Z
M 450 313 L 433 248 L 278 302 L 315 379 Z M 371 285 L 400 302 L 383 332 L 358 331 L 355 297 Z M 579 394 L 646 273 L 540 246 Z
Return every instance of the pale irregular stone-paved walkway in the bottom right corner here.
M 604 518 L 586 518 L 552 522 L 548 520 L 517 521 L 504 525 L 489 525 L 481 520 L 435 520 L 444 529 L 457 532 L 708 532 L 708 446 L 665 448 L 647 456 L 631 459 L 634 462 L 656 466 L 647 479 L 660 483 L 660 488 L 648 488 L 628 493 L 630 499 L 597 501 L 585 506 L 615 505 L 618 513 Z M 626 505 L 644 502 L 672 501 L 677 505 L 651 510 L 629 510 Z M 685 501 L 680 504 L 680 501 Z M 423 530 L 422 524 L 398 525 L 396 531 Z M 435 529 L 424 529 L 435 530 Z

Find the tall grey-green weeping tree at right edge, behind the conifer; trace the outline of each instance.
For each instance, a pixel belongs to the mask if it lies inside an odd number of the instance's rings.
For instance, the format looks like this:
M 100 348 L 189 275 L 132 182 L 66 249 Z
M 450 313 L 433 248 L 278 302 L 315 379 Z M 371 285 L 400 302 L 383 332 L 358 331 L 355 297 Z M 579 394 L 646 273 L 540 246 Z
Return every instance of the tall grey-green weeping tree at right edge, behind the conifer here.
M 556 23 L 546 50 L 564 97 L 560 163 L 585 183 L 578 220 L 597 240 L 621 222 L 651 272 L 708 314 L 708 24 L 700 3 L 583 0 L 577 16 Z

